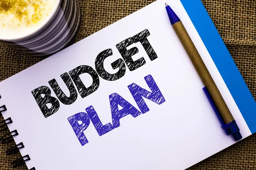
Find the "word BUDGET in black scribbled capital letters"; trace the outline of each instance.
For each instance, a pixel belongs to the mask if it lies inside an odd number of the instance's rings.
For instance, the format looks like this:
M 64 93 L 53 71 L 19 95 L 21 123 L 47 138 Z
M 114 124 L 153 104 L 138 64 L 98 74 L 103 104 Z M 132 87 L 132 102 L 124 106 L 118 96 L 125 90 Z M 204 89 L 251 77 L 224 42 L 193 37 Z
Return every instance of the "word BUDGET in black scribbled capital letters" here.
M 78 93 L 82 98 L 92 94 L 99 88 L 99 77 L 108 81 L 115 81 L 120 79 L 125 75 L 126 66 L 129 68 L 130 71 L 134 71 L 137 68 L 145 65 L 145 59 L 141 57 L 140 59 L 133 60 L 132 56 L 139 52 L 137 47 L 133 47 L 131 49 L 127 49 L 130 45 L 140 42 L 143 48 L 145 49 L 148 57 L 151 61 L 157 59 L 157 54 L 155 53 L 154 49 L 152 48 L 151 44 L 149 43 L 147 37 L 150 35 L 149 31 L 146 29 L 139 34 L 130 37 L 116 45 L 119 53 L 121 54 L 122 58 L 117 59 L 116 61 L 111 63 L 113 69 L 118 69 L 115 74 L 108 73 L 104 68 L 104 60 L 112 56 L 112 49 L 106 49 L 99 53 L 99 55 L 95 59 L 95 68 L 96 71 L 90 67 L 89 65 L 80 65 L 77 68 L 69 71 L 68 73 L 61 74 L 61 79 L 67 85 L 67 88 L 70 92 L 70 96 L 64 94 L 64 92 L 59 87 L 58 83 L 55 79 L 49 81 L 49 85 L 56 94 L 57 98 L 61 103 L 64 105 L 71 105 L 73 104 L 77 97 Z M 89 87 L 85 87 L 84 83 L 80 79 L 80 75 L 87 73 L 92 77 L 93 82 Z M 72 82 L 73 80 L 73 82 Z M 78 91 L 76 91 L 76 88 Z M 43 95 L 44 94 L 44 95 Z M 32 95 L 35 98 L 39 108 L 41 109 L 45 118 L 51 116 L 52 114 L 56 113 L 60 108 L 60 102 L 55 97 L 51 96 L 51 90 L 47 86 L 41 86 L 36 88 L 32 91 Z M 48 108 L 47 104 L 51 104 L 51 107 Z

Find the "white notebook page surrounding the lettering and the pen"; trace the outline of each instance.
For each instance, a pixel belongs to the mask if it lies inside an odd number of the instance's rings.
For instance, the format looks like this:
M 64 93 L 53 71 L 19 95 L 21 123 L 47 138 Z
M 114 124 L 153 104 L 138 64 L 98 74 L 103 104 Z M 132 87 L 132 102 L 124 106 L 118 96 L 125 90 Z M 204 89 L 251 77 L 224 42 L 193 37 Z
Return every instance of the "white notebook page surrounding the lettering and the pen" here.
M 20 152 L 22 156 L 29 154 L 31 160 L 26 162 L 29 168 L 183 170 L 234 144 L 232 137 L 226 136 L 221 129 L 202 90 L 204 86 L 169 23 L 165 2 L 175 10 L 189 32 L 233 113 L 242 136 L 251 134 L 180 1 L 158 0 L 0 82 L 0 104 L 5 104 L 8 109 L 3 116 L 5 119 L 12 118 L 9 129 L 17 129 L 19 135 L 14 139 L 17 144 L 23 142 L 25 145 Z M 99 88 L 95 92 L 84 98 L 78 94 L 71 105 L 64 105 L 58 100 L 58 111 L 44 117 L 32 95 L 34 89 L 47 86 L 51 89 L 51 95 L 57 98 L 48 83 L 56 79 L 69 96 L 60 75 L 80 65 L 88 65 L 96 70 L 96 57 L 109 48 L 113 55 L 105 59 L 104 67 L 109 73 L 116 73 L 118 68 L 113 69 L 111 63 L 122 59 L 116 45 L 145 29 L 150 32 L 147 39 L 157 59 L 151 61 L 140 42 L 130 45 L 128 49 L 137 47 L 139 50 L 132 59 L 135 61 L 143 57 L 145 65 L 130 71 L 125 64 L 125 75 L 116 81 L 99 77 Z M 131 115 L 123 117 L 120 127 L 102 136 L 90 122 L 84 130 L 88 143 L 82 146 L 68 118 L 76 113 L 86 113 L 85 109 L 92 105 L 103 125 L 112 124 L 109 96 L 114 93 L 140 111 L 128 85 L 135 83 L 150 91 L 144 79 L 148 75 L 153 77 L 165 102 L 158 105 L 144 98 L 150 111 L 136 118 Z M 82 74 L 80 78 L 86 87 L 91 85 L 92 78 L 88 74 Z

